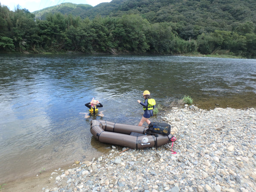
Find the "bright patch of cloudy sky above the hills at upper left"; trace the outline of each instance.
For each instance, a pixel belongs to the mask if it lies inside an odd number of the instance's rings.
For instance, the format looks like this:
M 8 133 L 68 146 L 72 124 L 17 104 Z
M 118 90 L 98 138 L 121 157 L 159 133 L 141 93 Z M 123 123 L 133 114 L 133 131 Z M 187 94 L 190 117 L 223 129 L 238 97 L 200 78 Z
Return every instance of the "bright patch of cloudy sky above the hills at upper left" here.
M 28 9 L 29 12 L 38 11 L 61 3 L 89 4 L 96 6 L 103 2 L 111 2 L 111 0 L 0 0 L 1 6 L 7 6 L 10 11 L 14 11 L 17 5 L 19 5 L 20 9 Z

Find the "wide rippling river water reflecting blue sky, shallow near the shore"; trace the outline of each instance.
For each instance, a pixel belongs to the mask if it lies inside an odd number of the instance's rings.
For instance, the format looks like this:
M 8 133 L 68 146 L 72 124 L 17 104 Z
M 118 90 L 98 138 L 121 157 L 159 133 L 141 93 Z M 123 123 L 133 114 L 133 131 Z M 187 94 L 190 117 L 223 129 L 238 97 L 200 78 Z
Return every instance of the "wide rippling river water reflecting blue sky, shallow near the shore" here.
M 137 100 L 191 96 L 200 108 L 256 107 L 256 60 L 134 55 L 0 55 L 0 184 L 91 160 L 110 145 L 91 119 L 137 125 Z M 84 119 L 98 99 L 104 117 Z M 153 117 L 157 119 L 157 116 Z

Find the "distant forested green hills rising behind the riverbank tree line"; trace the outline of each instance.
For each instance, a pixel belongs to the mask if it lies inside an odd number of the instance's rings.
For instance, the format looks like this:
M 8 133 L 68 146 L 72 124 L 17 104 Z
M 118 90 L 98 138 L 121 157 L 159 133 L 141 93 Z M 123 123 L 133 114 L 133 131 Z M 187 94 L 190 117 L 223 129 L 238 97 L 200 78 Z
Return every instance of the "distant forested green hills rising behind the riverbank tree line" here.
M 256 0 L 112 0 L 93 7 L 62 3 L 33 12 L 45 19 L 47 13 L 61 12 L 82 19 L 96 16 L 140 14 L 152 23 L 173 22 L 186 25 L 212 26 L 230 30 L 231 23 L 256 23 Z

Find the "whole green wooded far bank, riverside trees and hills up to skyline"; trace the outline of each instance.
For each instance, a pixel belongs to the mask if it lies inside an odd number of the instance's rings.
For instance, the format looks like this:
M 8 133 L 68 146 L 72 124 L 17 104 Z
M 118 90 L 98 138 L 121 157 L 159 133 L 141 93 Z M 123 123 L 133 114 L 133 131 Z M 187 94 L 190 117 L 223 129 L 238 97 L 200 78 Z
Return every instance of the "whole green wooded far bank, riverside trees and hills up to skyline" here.
M 0 4 L 0 52 L 255 58 L 255 9 L 255 0 L 112 0 L 35 13 Z

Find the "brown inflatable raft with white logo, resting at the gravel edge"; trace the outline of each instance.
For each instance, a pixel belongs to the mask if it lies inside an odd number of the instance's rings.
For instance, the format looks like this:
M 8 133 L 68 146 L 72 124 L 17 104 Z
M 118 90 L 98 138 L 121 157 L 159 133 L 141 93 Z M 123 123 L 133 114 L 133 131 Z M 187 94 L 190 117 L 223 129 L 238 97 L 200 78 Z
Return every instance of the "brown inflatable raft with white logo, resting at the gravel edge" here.
M 105 120 L 92 120 L 90 132 L 102 143 L 128 148 L 159 147 L 172 141 L 173 136 L 146 134 L 147 127 L 126 125 Z M 175 138 L 175 137 L 174 137 Z

